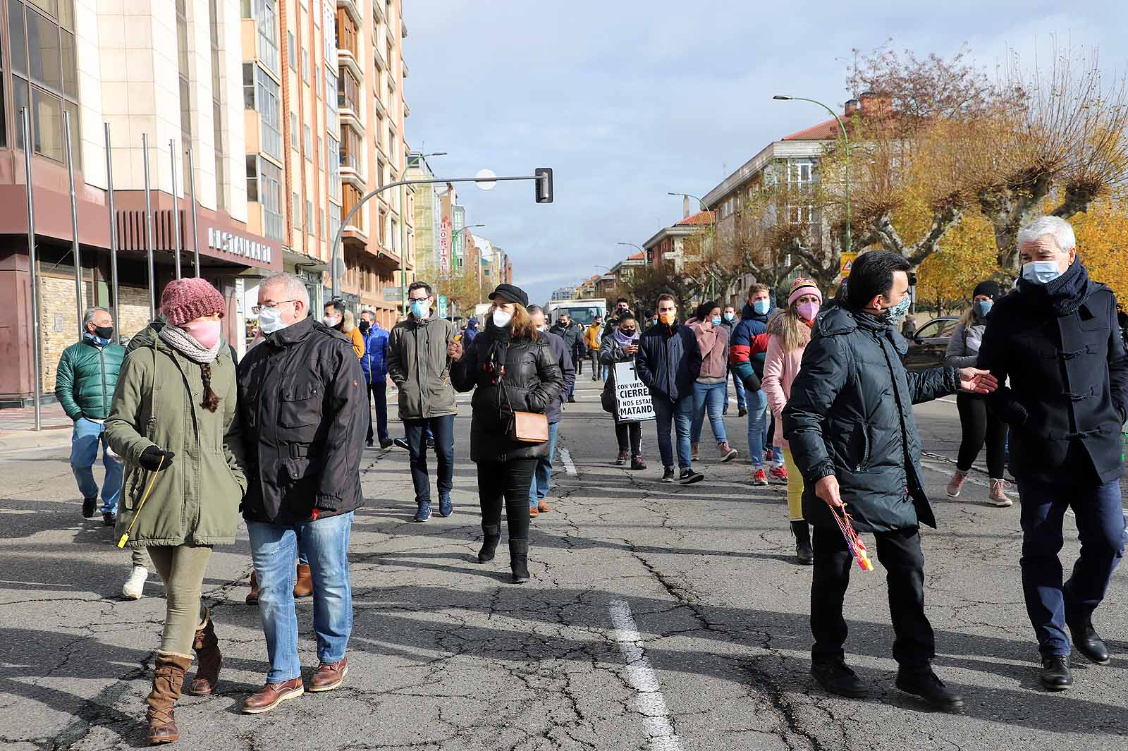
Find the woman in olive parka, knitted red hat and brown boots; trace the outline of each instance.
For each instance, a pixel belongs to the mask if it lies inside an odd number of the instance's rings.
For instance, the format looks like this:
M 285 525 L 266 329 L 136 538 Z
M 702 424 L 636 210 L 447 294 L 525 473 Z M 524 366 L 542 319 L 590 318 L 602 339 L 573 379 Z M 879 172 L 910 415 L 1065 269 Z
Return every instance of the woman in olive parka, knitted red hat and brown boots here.
M 117 533 L 148 548 L 165 582 L 149 743 L 179 737 L 173 707 L 192 651 L 200 664 L 187 692 L 209 695 L 219 679 L 222 656 L 201 589 L 212 546 L 235 542 L 247 487 L 236 454 L 235 365 L 220 351 L 223 297 L 202 279 L 183 279 L 165 288 L 160 306 L 168 324 L 125 357 L 106 419 L 109 445 L 126 463 Z

